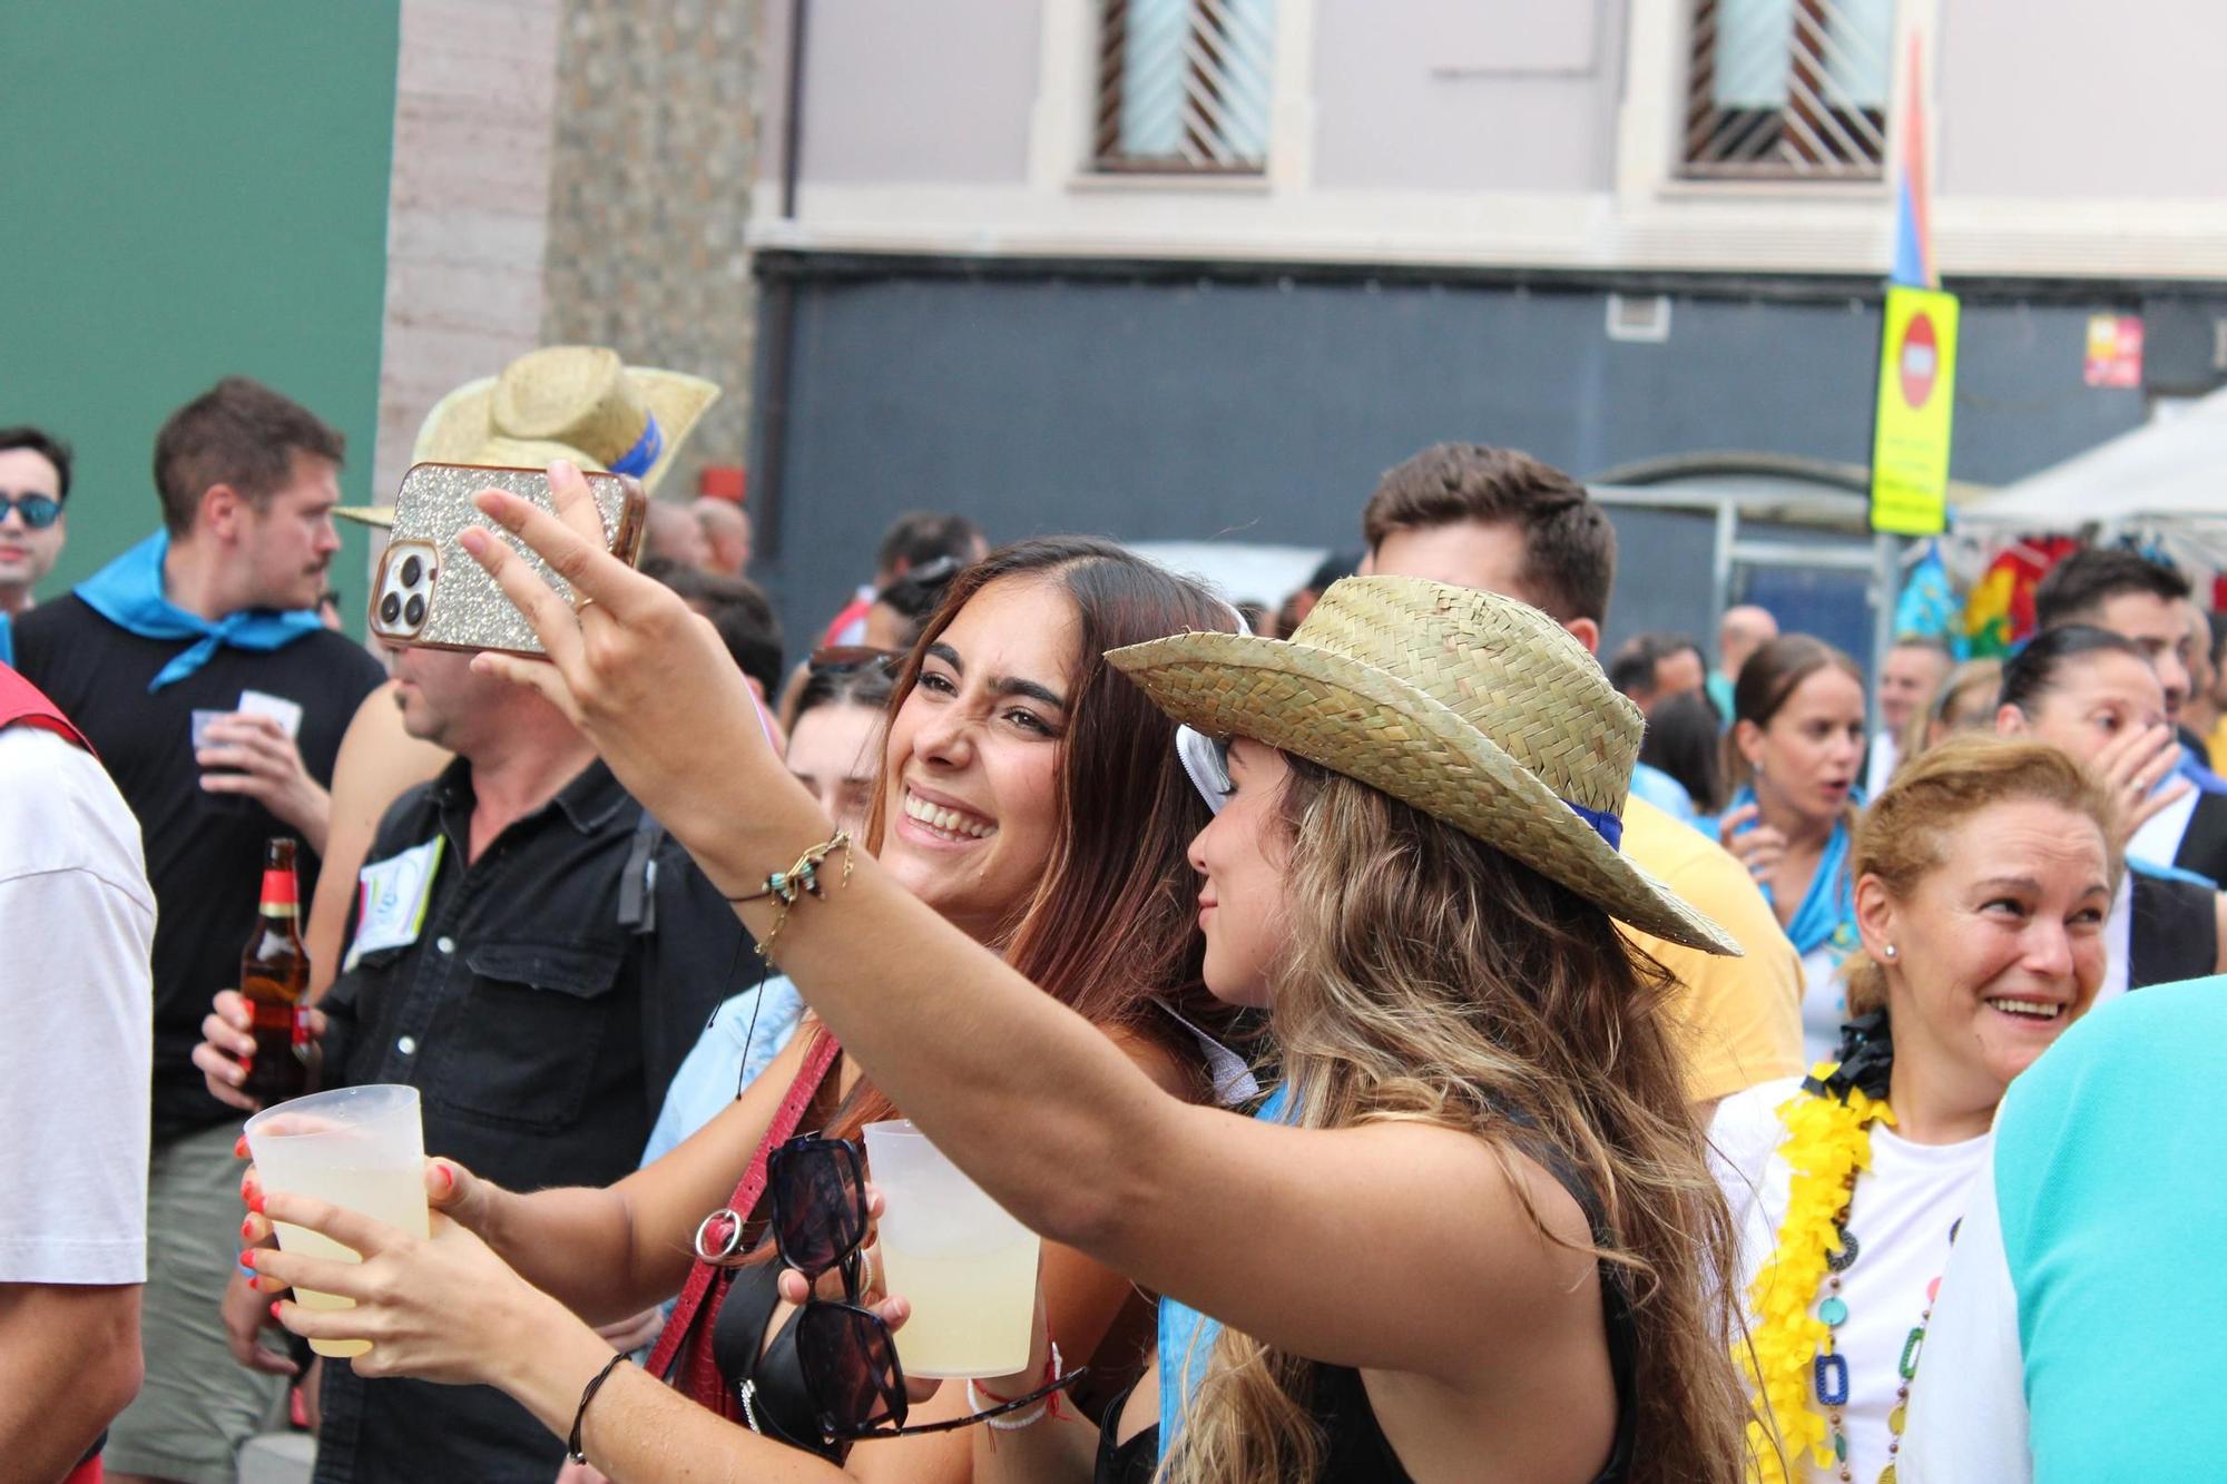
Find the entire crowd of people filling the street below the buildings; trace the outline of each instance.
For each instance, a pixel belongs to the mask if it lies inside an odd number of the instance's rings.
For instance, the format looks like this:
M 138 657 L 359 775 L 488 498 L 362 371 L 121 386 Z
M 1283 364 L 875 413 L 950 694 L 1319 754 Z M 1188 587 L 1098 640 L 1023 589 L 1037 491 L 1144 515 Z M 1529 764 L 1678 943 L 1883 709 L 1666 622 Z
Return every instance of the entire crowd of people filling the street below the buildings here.
M 550 348 L 428 419 L 548 466 L 461 537 L 541 657 L 334 633 L 334 519 L 392 510 L 241 377 L 33 604 L 71 450 L 0 430 L 0 1473 L 2203 1477 L 2180 573 L 2069 555 L 2000 664 L 1739 606 L 1603 666 L 1603 508 L 1439 443 L 1274 611 L 915 512 L 788 646 L 742 506 L 659 495 L 715 394 Z M 272 836 L 301 1054 L 416 1090 L 430 1237 L 245 1163 Z M 1044 1241 L 1011 1375 L 904 1384 L 895 1116 Z

